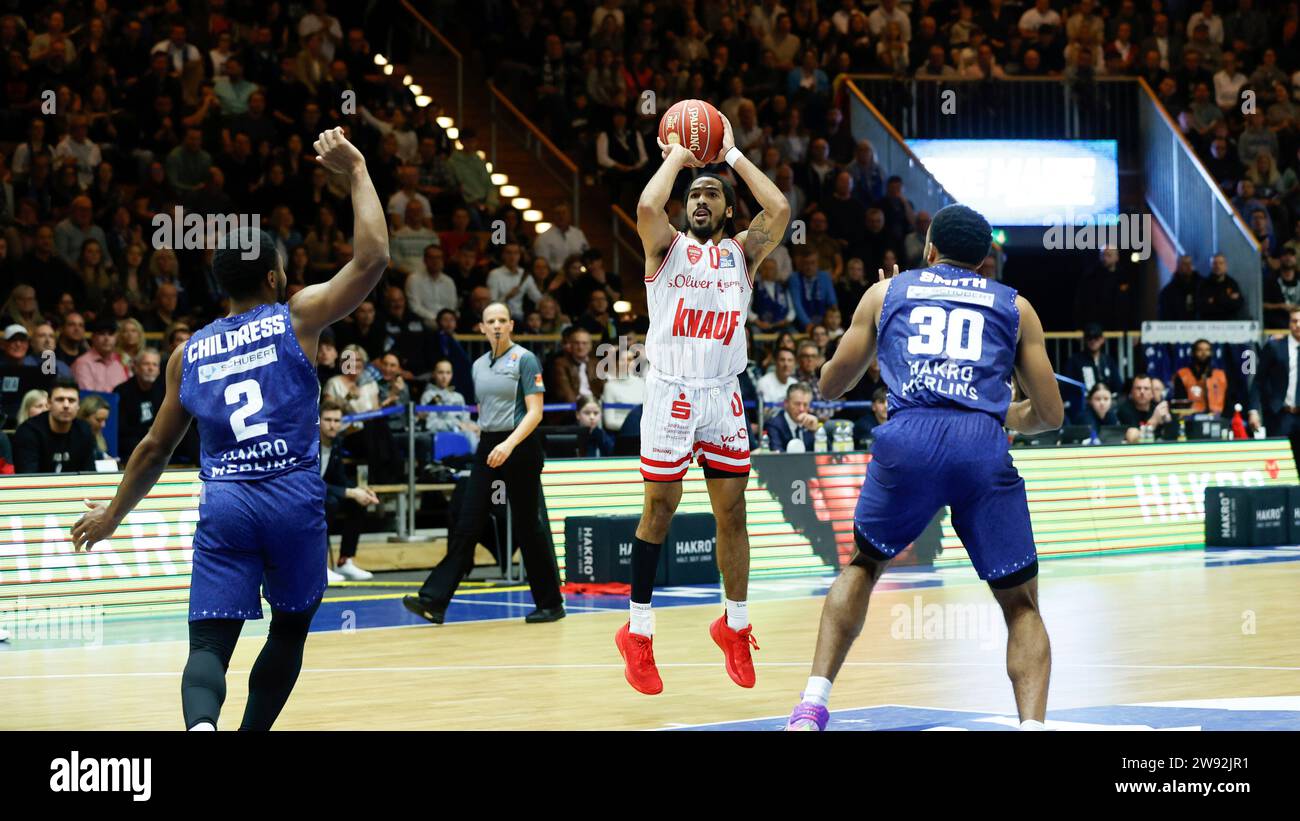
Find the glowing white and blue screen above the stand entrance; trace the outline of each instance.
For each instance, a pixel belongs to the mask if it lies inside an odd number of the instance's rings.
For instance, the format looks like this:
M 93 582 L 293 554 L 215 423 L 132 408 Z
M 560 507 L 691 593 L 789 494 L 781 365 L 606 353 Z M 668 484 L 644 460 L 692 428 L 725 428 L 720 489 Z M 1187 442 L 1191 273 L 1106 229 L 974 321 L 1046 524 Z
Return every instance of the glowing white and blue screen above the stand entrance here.
M 1113 222 L 1119 214 L 1115 140 L 907 140 L 958 203 L 992 225 Z

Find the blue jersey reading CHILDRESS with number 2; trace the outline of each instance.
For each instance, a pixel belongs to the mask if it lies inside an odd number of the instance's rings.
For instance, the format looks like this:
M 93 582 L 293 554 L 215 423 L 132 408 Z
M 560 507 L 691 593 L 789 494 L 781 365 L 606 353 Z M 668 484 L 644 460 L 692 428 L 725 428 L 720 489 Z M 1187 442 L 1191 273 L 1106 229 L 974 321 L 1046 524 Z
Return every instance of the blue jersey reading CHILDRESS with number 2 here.
M 222 317 L 183 351 L 181 404 L 199 425 L 199 475 L 264 479 L 318 472 L 320 382 L 285 303 Z

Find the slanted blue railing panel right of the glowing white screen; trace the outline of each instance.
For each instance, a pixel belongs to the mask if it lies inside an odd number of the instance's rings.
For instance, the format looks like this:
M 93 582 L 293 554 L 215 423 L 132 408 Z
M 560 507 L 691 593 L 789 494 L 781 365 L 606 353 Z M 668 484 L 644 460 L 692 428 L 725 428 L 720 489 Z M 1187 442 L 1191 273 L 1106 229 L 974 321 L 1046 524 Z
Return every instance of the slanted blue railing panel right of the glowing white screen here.
M 1247 318 L 1260 320 L 1264 310 L 1260 243 L 1147 81 L 1139 79 L 1139 87 L 1147 205 L 1191 255 L 1197 269 L 1209 270 L 1216 253 L 1227 259 L 1228 273 L 1242 286 Z

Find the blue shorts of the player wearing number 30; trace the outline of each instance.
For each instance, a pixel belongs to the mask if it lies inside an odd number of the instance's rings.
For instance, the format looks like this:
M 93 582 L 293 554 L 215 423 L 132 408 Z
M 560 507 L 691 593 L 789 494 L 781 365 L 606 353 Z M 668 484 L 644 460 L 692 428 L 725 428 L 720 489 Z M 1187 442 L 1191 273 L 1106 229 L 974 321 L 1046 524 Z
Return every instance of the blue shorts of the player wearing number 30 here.
M 875 429 L 853 517 L 858 549 L 893 559 L 945 505 L 979 577 L 1013 587 L 1037 572 L 1024 479 L 987 413 L 909 408 Z

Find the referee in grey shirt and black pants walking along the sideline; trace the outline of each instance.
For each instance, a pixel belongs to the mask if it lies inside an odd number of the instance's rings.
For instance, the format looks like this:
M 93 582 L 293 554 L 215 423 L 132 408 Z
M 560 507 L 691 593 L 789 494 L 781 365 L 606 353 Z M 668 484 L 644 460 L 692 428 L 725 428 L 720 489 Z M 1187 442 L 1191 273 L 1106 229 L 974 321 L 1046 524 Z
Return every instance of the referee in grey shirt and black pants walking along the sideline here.
M 456 587 L 473 568 L 474 544 L 488 524 L 489 505 L 497 496 L 497 482 L 506 483 L 514 538 L 524 553 L 528 585 L 537 605 L 524 621 L 564 618 L 560 575 L 555 548 L 538 522 L 542 495 L 542 366 L 532 351 L 510 339 L 515 322 L 502 303 L 484 308 L 482 331 L 491 348 L 474 360 L 474 394 L 478 396 L 478 426 L 482 438 L 465 492 L 465 504 L 451 529 L 447 555 L 429 573 L 420 595 L 406 596 L 408 611 L 441 625 Z M 515 546 L 510 546 L 515 552 Z

